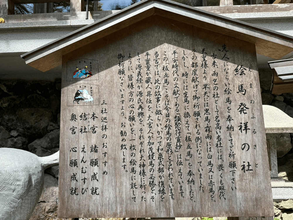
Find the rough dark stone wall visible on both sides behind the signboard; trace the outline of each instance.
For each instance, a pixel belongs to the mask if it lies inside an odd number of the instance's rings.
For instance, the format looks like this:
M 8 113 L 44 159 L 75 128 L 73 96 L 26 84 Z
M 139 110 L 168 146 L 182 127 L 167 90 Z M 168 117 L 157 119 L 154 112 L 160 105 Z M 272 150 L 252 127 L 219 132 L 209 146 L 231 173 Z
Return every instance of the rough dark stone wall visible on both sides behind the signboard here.
M 293 93 L 270 94 L 272 70 L 259 70 L 262 104 L 293 117 Z M 28 150 L 38 156 L 59 150 L 61 79 L 0 82 L 0 147 Z M 293 181 L 292 134 L 277 134 L 279 177 Z M 57 220 L 59 167 L 45 170 L 42 196 L 31 220 Z M 275 203 L 279 219 L 293 219 L 293 201 Z

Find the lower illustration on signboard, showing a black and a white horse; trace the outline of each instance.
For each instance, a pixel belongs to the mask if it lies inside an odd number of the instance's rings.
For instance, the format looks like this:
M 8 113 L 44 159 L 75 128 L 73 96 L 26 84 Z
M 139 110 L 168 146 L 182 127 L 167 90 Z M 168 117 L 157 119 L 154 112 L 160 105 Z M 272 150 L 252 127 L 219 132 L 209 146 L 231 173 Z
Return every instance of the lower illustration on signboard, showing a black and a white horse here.
M 99 86 L 81 83 L 67 87 L 67 106 L 99 105 Z

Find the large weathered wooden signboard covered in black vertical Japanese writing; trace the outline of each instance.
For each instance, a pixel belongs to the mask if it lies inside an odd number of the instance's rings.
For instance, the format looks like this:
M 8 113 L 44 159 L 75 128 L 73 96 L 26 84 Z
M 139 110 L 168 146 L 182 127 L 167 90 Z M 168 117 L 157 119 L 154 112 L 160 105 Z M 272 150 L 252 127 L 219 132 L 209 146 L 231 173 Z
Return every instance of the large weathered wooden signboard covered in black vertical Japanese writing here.
M 63 56 L 59 217 L 273 216 L 255 45 L 153 16 Z

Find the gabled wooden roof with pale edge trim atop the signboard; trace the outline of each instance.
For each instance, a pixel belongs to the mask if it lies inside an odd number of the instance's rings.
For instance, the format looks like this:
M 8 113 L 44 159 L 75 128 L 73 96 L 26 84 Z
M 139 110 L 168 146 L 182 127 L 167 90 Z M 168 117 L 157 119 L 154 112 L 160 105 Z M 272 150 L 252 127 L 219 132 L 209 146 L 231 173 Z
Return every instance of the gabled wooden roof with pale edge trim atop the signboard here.
M 62 55 L 159 15 L 255 44 L 256 53 L 279 59 L 293 51 L 293 37 L 168 0 L 145 0 L 25 53 L 26 64 L 43 72 L 62 63 Z

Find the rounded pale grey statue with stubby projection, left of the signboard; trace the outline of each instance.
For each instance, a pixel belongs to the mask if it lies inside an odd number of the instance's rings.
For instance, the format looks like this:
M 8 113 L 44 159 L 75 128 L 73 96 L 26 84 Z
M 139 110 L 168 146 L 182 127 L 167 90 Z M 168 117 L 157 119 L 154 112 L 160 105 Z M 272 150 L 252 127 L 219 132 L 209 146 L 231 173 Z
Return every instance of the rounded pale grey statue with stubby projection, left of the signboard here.
M 0 220 L 29 220 L 44 185 L 44 170 L 59 164 L 59 151 L 47 157 L 0 148 Z

